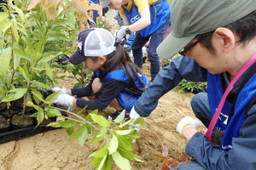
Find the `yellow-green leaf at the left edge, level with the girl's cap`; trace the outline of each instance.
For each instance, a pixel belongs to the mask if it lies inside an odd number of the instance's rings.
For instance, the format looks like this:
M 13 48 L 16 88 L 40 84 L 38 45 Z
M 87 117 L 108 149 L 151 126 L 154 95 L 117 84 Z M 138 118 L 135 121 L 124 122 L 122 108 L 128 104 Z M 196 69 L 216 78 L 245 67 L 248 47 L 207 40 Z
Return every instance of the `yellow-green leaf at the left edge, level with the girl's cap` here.
M 11 48 L 5 48 L 3 53 L 0 55 L 0 72 L 5 77 L 7 71 L 9 70 L 9 61 L 11 59 Z

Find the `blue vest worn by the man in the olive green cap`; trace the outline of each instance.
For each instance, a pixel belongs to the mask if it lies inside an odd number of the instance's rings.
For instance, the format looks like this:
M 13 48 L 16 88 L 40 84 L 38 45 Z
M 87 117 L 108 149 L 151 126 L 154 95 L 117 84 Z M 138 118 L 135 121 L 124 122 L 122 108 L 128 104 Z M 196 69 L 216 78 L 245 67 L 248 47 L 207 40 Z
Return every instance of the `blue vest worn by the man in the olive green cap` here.
M 208 72 L 207 74 L 207 94 L 210 105 L 211 115 L 214 115 L 220 99 L 224 92 L 220 83 L 220 75 L 212 75 Z M 227 121 L 230 114 L 231 104 L 227 100 L 224 102 L 224 107 L 218 116 L 215 128 L 218 130 L 225 130 L 224 138 L 222 141 L 222 148 L 224 150 L 230 150 L 232 148 L 232 138 L 238 138 L 240 136 L 239 130 L 241 124 L 244 122 L 245 113 L 248 103 L 253 99 L 253 95 L 256 94 L 256 74 L 253 75 L 246 83 L 244 88 L 238 94 L 236 99 L 234 116 L 230 119 L 227 125 Z

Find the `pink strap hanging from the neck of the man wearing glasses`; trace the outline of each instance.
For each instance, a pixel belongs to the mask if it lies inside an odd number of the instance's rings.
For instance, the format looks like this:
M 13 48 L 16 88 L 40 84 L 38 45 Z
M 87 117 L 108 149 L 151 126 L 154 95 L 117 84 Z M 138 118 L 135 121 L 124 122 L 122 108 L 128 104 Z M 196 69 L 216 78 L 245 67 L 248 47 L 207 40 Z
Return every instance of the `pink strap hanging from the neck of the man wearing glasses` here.
M 212 121 L 210 122 L 210 125 L 207 129 L 207 139 L 210 142 L 212 142 L 213 128 L 215 127 L 215 124 L 218 121 L 219 113 L 223 108 L 224 101 L 225 101 L 227 95 L 230 94 L 231 89 L 234 88 L 234 85 L 235 85 L 236 81 L 238 80 L 238 78 L 241 77 L 241 75 L 244 73 L 244 71 L 246 71 L 254 62 L 256 62 L 256 53 L 253 54 L 253 56 L 247 60 L 245 65 L 242 65 L 241 69 L 236 73 L 235 77 L 233 77 L 233 79 L 231 80 L 228 88 L 226 88 L 224 95 L 222 96 L 222 99 L 220 100 L 220 102 L 218 104 L 218 108 L 212 117 Z

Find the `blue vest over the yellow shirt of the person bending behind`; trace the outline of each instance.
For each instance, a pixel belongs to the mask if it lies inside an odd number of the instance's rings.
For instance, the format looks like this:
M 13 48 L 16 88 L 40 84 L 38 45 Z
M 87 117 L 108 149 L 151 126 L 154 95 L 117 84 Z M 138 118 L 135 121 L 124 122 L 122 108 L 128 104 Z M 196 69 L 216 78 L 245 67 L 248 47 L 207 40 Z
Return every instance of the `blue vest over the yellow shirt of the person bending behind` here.
M 129 20 L 130 23 L 133 24 L 141 18 L 141 15 L 138 12 L 137 6 L 133 3 L 133 1 L 131 2 L 132 2 L 131 12 L 126 10 L 123 6 L 122 8 L 124 9 L 127 20 Z M 160 26 L 166 23 L 166 20 L 171 14 L 171 7 L 166 0 L 162 0 L 159 3 L 156 3 L 154 6 L 150 6 L 149 11 L 150 11 L 151 24 L 146 28 L 144 28 L 143 30 L 139 31 L 142 37 L 150 36 Z

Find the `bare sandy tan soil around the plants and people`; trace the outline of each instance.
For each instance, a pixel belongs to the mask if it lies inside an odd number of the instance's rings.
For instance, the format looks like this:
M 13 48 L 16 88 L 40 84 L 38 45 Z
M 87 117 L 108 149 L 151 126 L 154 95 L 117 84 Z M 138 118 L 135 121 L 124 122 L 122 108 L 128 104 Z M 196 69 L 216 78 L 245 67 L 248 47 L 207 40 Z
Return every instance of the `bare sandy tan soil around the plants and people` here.
M 109 14 L 109 13 L 108 13 Z M 107 14 L 107 17 L 108 17 Z M 111 22 L 114 20 L 109 19 Z M 116 26 L 116 25 L 115 25 Z M 149 62 L 143 64 L 143 72 L 149 77 Z M 73 88 L 76 83 L 73 79 L 66 78 L 60 82 L 59 87 Z M 177 93 L 177 88 L 160 98 L 156 109 L 148 116 L 146 125 L 150 130 L 159 135 L 169 152 L 180 156 L 185 149 L 187 140 L 176 131 L 177 123 L 184 116 L 195 118 L 190 106 L 194 94 Z M 101 114 L 109 114 L 114 110 L 108 107 Z M 85 116 L 86 111 L 82 113 Z M 204 128 L 202 125 L 200 129 Z M 83 147 L 77 139 L 67 140 L 65 128 L 56 129 L 47 133 L 9 143 L 0 144 L 0 170 L 70 170 L 70 169 L 95 169 L 89 166 L 93 157 L 88 158 L 93 151 L 99 149 L 98 144 L 90 145 L 90 137 Z M 161 169 L 162 163 L 154 161 L 150 152 L 161 155 L 160 141 L 153 133 L 143 131 L 142 138 L 133 144 L 135 154 L 144 162 L 131 161 L 133 170 Z M 155 168 L 156 166 L 157 168 Z M 113 169 L 119 169 L 114 166 Z

